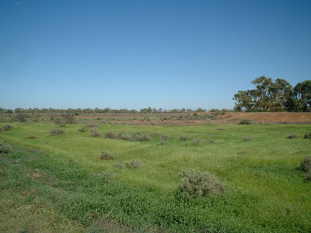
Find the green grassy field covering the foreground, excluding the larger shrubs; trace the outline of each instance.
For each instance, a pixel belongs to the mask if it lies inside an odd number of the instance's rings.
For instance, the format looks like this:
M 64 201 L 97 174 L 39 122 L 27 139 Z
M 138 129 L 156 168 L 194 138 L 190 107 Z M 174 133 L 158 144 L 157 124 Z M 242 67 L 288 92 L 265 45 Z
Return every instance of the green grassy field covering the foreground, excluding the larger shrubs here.
M 297 169 L 311 155 L 310 125 L 100 124 L 92 137 L 85 124 L 61 135 L 50 123 L 10 124 L 0 133 L 12 148 L 0 153 L 0 232 L 311 232 L 311 183 Z M 182 195 L 183 170 L 216 175 L 225 193 Z

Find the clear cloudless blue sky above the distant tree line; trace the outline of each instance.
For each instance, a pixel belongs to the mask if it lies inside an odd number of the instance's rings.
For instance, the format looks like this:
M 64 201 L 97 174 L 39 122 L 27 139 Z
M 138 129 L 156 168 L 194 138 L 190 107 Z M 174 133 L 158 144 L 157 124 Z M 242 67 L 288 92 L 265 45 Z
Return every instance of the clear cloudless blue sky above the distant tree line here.
M 233 109 L 311 79 L 311 0 L 0 0 L 0 107 Z

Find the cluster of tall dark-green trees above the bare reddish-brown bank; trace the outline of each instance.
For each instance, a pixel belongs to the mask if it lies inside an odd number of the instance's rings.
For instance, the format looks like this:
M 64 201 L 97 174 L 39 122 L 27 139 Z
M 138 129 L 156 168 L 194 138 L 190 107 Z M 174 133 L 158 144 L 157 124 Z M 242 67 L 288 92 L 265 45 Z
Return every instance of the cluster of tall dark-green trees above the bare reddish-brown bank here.
M 251 82 L 255 89 L 233 96 L 237 112 L 311 112 L 311 80 L 293 87 L 284 79 L 261 76 Z

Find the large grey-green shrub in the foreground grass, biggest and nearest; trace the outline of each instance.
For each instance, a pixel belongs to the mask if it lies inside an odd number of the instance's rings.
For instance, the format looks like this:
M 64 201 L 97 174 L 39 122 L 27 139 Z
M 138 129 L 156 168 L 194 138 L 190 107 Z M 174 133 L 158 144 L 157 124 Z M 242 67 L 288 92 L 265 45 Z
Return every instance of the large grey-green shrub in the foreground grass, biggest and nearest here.
M 225 192 L 225 183 L 207 171 L 185 170 L 180 177 L 182 181 L 179 183 L 179 191 L 188 197 L 204 197 Z

